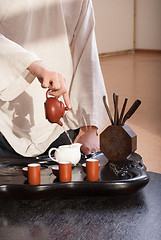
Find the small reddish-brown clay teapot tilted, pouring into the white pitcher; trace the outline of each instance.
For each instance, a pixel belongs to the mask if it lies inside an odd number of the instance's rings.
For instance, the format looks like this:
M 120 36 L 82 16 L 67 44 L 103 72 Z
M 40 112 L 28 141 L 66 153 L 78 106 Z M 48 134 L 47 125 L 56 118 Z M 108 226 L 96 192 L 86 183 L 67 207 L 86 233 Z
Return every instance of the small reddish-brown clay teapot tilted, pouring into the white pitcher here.
M 57 123 L 63 126 L 60 118 L 64 116 L 64 112 L 68 110 L 68 107 L 65 107 L 64 103 L 59 101 L 57 97 L 49 97 L 50 91 L 50 89 L 47 90 L 46 102 L 44 103 L 46 119 L 51 123 Z

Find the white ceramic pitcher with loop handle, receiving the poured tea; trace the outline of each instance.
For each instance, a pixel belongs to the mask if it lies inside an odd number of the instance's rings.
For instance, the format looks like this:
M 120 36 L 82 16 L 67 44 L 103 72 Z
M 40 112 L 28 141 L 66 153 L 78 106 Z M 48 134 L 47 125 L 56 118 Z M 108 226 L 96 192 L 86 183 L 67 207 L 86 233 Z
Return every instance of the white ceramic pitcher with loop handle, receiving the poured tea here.
M 50 159 L 55 162 L 70 161 L 73 165 L 76 165 L 81 158 L 80 147 L 81 143 L 73 143 L 70 145 L 62 145 L 58 148 L 51 148 L 48 152 Z M 52 151 L 55 150 L 54 157 L 51 156 Z

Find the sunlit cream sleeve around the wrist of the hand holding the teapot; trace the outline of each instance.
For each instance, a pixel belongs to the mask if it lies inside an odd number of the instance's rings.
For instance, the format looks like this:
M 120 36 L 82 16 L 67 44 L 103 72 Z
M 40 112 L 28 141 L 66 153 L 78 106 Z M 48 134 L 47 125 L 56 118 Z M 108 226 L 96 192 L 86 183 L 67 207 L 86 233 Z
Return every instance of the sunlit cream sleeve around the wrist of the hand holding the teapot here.
M 11 101 L 34 80 L 27 70 L 39 58 L 0 34 L 0 99 Z

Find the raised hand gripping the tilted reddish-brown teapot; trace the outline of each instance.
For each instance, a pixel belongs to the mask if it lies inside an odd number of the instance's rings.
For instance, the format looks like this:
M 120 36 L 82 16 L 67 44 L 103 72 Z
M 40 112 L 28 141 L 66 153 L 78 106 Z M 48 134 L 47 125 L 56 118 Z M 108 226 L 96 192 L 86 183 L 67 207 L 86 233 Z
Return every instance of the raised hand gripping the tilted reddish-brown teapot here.
M 64 102 L 70 108 L 69 95 L 67 92 L 66 79 L 60 73 L 47 68 L 41 61 L 35 61 L 27 68 L 32 75 L 38 78 L 42 88 L 49 88 L 52 91 L 49 93 L 55 97 L 64 98 Z

